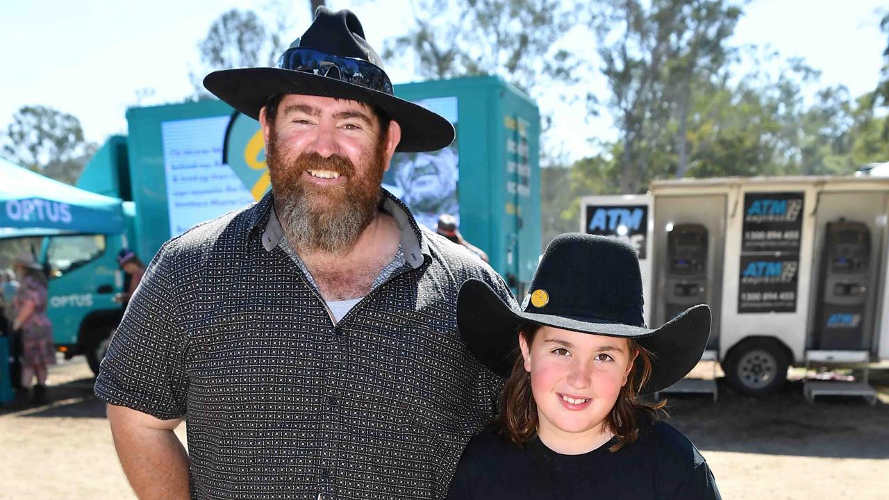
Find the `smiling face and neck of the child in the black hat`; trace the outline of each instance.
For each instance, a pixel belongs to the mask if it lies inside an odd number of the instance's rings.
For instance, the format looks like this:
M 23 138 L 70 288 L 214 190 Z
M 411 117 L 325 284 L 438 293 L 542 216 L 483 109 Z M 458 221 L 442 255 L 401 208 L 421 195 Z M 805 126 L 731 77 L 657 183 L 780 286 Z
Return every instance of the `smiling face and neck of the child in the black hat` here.
M 605 417 L 632 367 L 627 339 L 541 327 L 531 346 L 521 335 L 519 345 L 531 373 L 541 440 L 600 442 Z

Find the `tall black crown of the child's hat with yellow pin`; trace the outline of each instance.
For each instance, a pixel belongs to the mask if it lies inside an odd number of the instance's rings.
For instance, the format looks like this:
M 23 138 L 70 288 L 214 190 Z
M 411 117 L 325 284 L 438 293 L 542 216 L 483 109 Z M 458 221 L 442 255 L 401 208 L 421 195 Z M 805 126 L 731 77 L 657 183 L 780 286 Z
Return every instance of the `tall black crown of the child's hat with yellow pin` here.
M 527 312 L 645 327 L 639 258 L 619 239 L 559 235 L 531 280 L 530 292 L 536 290 L 549 300 L 529 301 Z

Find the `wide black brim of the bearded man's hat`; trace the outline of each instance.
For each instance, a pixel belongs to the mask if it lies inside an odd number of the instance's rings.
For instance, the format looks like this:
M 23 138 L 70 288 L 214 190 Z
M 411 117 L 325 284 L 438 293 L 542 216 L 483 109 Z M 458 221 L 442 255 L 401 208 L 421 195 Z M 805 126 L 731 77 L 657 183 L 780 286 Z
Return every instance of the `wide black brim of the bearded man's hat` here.
M 453 142 L 454 129 L 445 117 L 411 101 L 361 85 L 329 77 L 280 68 L 242 68 L 213 71 L 204 87 L 234 109 L 260 119 L 260 109 L 272 95 L 299 93 L 365 102 L 384 109 L 401 125 L 396 151 L 436 151 Z

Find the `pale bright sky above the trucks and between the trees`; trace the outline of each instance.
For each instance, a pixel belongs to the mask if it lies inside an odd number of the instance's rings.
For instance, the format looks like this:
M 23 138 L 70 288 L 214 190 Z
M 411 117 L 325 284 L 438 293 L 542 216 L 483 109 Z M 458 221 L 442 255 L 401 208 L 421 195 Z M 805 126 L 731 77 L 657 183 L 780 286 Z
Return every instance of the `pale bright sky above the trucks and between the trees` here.
M 12 0 L 0 3 L 0 129 L 24 105 L 48 105 L 78 117 L 88 139 L 102 142 L 124 133 L 124 111 L 140 101 L 180 101 L 192 92 L 189 70 L 198 63 L 198 41 L 212 20 L 229 8 L 260 10 L 247 0 L 152 0 L 150 2 Z M 292 36 L 308 26 L 308 1 L 292 9 Z M 411 21 L 407 0 L 329 1 L 351 8 L 364 22 L 370 43 L 404 33 Z M 821 85 L 846 85 L 853 95 L 877 85 L 886 46 L 877 0 L 754 0 L 740 21 L 735 44 L 770 44 L 783 57 L 802 57 L 822 71 Z M 413 79 L 411 69 L 388 67 L 395 83 Z M 594 88 L 601 82 L 590 82 Z M 551 137 L 565 141 L 569 157 L 593 151 L 586 136 L 609 138 L 610 119 L 583 125 L 581 107 L 541 100 L 556 117 Z M 587 131 L 578 134 L 576 131 Z

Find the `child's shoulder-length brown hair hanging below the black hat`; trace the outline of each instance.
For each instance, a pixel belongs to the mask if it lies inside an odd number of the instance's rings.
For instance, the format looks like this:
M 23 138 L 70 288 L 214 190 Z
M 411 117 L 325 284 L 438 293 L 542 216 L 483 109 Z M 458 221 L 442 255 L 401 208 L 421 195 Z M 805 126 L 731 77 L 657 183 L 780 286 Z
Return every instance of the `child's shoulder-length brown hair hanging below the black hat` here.
M 540 325 L 525 325 L 519 328 L 519 334 L 525 337 L 530 347 L 534 336 L 541 329 Z M 621 387 L 617 401 L 608 416 L 605 425 L 617 438 L 610 451 L 617 451 L 639 438 L 640 432 L 651 426 L 659 418 L 659 413 L 667 405 L 667 401 L 645 402 L 637 399 L 639 390 L 652 376 L 652 354 L 646 351 L 635 340 L 629 342 L 629 359 L 634 359 L 629 370 L 627 383 Z M 501 399 L 500 431 L 517 445 L 522 445 L 537 433 L 537 403 L 531 391 L 531 374 L 525 371 L 522 353 L 517 349 L 516 362 L 512 373 L 503 388 Z

